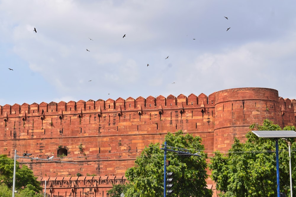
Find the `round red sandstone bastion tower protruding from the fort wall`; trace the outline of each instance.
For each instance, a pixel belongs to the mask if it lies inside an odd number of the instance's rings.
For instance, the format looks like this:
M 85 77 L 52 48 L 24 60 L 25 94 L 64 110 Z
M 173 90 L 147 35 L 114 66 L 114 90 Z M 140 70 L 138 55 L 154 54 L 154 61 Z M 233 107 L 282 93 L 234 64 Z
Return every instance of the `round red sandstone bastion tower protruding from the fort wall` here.
M 269 88 L 234 88 L 215 93 L 214 151 L 227 151 L 234 137 L 245 140 L 250 124 L 281 126 L 279 93 Z

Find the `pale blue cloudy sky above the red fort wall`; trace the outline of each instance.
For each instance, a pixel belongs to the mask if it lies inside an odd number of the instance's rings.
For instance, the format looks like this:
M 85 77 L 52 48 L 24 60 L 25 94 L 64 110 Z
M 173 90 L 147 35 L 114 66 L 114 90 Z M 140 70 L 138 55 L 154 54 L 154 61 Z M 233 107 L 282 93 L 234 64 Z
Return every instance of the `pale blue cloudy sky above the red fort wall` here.
M 293 0 L 0 0 L 0 105 L 239 87 L 296 99 L 295 7 Z

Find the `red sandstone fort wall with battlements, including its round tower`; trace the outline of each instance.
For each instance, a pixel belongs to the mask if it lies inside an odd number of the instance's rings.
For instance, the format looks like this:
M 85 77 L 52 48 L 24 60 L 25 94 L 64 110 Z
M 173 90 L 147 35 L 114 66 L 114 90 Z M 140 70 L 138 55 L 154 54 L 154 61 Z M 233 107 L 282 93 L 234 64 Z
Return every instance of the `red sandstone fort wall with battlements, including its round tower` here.
M 32 153 L 33 157 L 76 162 L 18 159 L 33 170 L 43 186 L 49 178 L 46 187 L 52 195 L 106 196 L 112 184 L 103 181 L 105 175 L 109 180 L 122 179 L 141 150 L 150 143 L 163 143 L 168 132 L 181 129 L 201 136 L 212 156 L 215 150 L 227 151 L 234 137 L 244 140 L 252 123 L 261 124 L 268 118 L 281 127 L 296 126 L 295 106 L 295 99 L 283 99 L 277 90 L 268 88 L 226 89 L 208 97 L 191 94 L 7 104 L 0 106 L 0 154 L 13 157 L 17 149 L 18 155 Z M 61 150 L 67 156 L 58 157 Z M 78 184 L 77 173 L 86 179 L 96 176 L 87 184 L 85 180 Z

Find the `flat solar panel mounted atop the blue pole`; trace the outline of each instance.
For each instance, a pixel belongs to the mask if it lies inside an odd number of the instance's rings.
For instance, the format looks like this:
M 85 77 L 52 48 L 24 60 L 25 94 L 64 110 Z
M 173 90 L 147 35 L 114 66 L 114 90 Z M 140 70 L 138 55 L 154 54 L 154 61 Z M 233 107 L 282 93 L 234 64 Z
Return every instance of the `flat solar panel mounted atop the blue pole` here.
M 295 131 L 252 131 L 260 138 L 295 138 Z

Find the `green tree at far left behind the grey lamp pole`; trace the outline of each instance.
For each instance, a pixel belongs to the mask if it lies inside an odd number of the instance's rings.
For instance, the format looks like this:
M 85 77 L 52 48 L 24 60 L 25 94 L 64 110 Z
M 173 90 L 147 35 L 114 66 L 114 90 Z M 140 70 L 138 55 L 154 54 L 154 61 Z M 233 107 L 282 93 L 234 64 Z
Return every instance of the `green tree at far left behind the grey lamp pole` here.
M 13 168 L 14 160 L 8 158 L 6 155 L 0 155 L 0 181 L 8 188 L 12 188 L 13 185 Z M 25 188 L 27 184 L 31 184 L 35 192 L 41 190 L 40 182 L 33 175 L 33 171 L 26 165 L 20 167 L 19 163 L 16 162 L 16 172 L 15 172 L 15 188 Z

